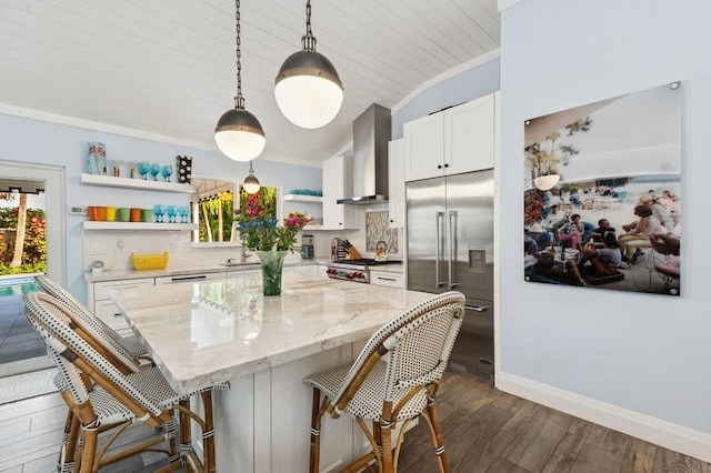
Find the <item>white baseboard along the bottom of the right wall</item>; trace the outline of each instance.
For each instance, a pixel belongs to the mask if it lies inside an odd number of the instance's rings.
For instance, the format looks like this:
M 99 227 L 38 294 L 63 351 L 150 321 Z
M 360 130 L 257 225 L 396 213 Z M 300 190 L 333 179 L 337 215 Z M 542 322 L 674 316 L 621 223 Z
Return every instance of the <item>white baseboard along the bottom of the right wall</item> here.
M 710 434 L 510 373 L 498 373 L 497 389 L 684 455 L 711 462 Z

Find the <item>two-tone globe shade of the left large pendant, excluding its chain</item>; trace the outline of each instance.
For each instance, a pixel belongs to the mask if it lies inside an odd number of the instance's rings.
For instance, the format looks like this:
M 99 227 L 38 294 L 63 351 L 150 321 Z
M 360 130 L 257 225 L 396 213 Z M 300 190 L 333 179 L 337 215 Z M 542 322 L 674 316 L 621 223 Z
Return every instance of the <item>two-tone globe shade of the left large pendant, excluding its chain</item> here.
M 220 117 L 214 128 L 214 141 L 228 158 L 251 161 L 264 150 L 267 140 L 257 117 L 234 108 Z

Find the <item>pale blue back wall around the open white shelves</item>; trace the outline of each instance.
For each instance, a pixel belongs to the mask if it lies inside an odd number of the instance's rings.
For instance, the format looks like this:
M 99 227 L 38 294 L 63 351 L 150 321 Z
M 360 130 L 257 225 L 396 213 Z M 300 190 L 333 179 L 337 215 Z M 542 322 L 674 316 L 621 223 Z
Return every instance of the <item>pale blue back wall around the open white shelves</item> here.
M 82 185 L 80 175 L 86 171 L 87 142 L 90 141 L 106 144 L 108 160 L 133 162 L 147 160 L 161 164 L 174 164 L 177 155 L 190 155 L 192 157 L 192 173 L 200 177 L 242 181 L 249 169 L 249 163 L 232 161 L 217 151 L 190 149 L 0 114 L 0 160 L 63 167 L 67 177 L 67 208 L 86 205 L 151 208 L 154 203 L 187 203 L 186 194 Z M 262 183 L 282 185 L 284 191 L 304 188 L 321 189 L 320 168 L 257 160 L 254 161 L 254 173 Z M 0 174 L 2 174 L 1 169 Z M 48 198 L 51 199 L 51 195 Z M 67 286 L 74 295 L 83 300 L 86 299 L 86 283 L 82 274 L 81 224 L 86 218 L 69 214 L 63 217 L 67 229 L 67 268 L 64 269 Z M 51 224 L 51 221 L 48 221 L 48 224 Z M 126 238 L 140 239 L 141 233 L 132 232 Z M 171 235 L 171 233 L 174 232 L 160 234 L 164 234 L 167 239 L 177 238 L 180 240 L 184 236 Z M 213 250 L 207 250 L 207 252 L 214 253 Z M 98 259 L 101 256 L 99 255 Z

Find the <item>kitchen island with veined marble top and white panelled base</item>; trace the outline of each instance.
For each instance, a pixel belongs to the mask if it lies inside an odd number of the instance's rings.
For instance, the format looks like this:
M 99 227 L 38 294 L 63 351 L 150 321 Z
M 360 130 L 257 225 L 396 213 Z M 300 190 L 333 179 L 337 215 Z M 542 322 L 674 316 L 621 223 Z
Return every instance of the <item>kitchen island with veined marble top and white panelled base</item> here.
M 230 382 L 213 400 L 218 471 L 296 473 L 309 464 L 301 380 L 351 362 L 381 324 L 431 294 L 284 274 L 280 296 L 264 298 L 250 276 L 112 296 L 176 391 Z M 354 423 L 327 421 L 324 432 L 323 471 L 368 450 Z

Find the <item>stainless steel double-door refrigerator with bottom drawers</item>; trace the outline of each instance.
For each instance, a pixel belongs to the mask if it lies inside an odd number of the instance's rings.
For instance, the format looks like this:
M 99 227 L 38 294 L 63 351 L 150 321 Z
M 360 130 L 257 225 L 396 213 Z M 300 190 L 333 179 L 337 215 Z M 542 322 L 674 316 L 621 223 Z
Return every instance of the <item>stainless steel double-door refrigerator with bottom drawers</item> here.
M 408 182 L 408 289 L 460 291 L 451 362 L 493 374 L 493 170 Z

